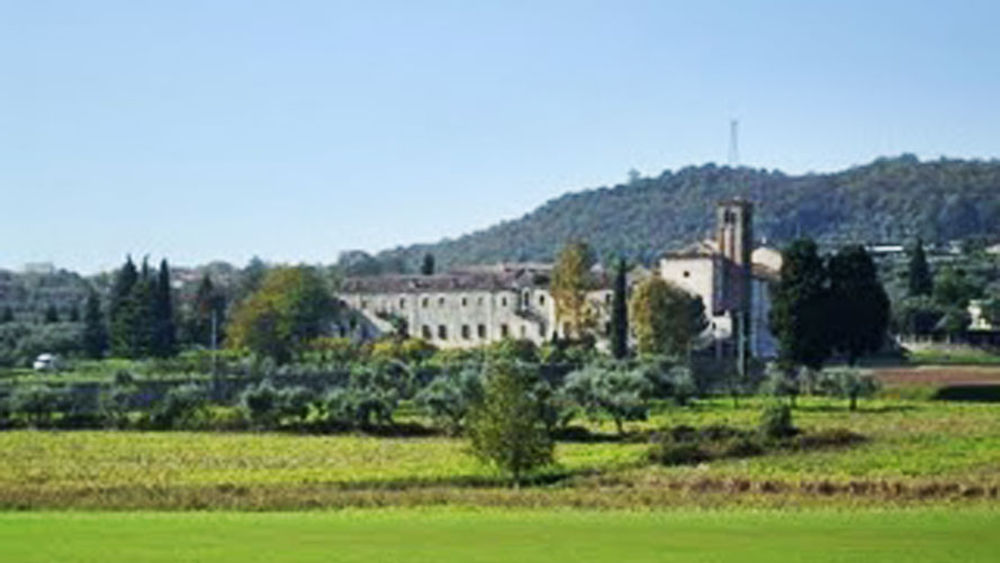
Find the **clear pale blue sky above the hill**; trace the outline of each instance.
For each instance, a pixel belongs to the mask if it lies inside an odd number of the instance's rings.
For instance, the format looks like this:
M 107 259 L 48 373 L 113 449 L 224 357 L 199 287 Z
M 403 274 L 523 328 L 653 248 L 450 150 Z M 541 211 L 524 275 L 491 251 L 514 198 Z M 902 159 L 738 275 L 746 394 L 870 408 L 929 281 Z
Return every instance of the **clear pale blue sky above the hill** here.
M 0 3 L 0 267 L 332 262 L 724 162 L 1000 155 L 996 2 Z

